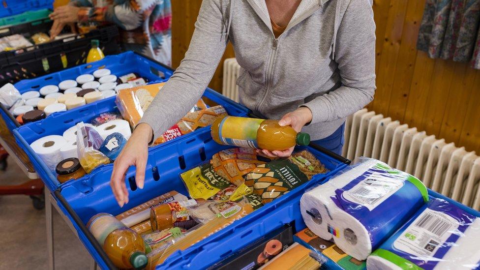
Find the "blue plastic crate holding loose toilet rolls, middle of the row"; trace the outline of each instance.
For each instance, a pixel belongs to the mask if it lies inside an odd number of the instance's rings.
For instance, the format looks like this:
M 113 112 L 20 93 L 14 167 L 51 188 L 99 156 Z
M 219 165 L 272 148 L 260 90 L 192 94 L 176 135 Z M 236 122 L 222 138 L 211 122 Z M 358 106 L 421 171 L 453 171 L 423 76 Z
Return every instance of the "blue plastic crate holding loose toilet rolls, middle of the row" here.
M 248 113 L 248 109 L 220 95 L 214 90 L 207 89 L 203 97 L 222 105 L 229 115 L 246 116 Z M 74 180 L 70 180 L 63 184 L 60 184 L 60 182 L 57 180 L 56 175 L 47 168 L 41 158 L 30 148 L 30 144 L 48 135 L 62 135 L 65 130 L 74 126 L 75 124 L 81 121 L 90 122 L 90 120 L 92 120 L 99 114 L 105 112 L 118 112 L 117 105 L 115 104 L 115 97 L 103 99 L 98 102 L 75 108 L 64 113 L 55 113 L 44 120 L 28 123 L 13 131 L 13 134 L 19 146 L 23 150 L 25 150 L 25 152 L 30 158 L 30 161 L 33 164 L 33 167 L 35 168 L 35 171 L 51 191 L 56 190 L 60 187 L 60 185 L 68 184 L 69 182 Z M 189 136 L 195 136 L 195 133 L 200 132 L 204 129 L 209 130 L 210 127 L 198 129 L 172 141 L 180 140 L 181 138 L 187 138 Z M 149 151 L 155 151 L 156 149 L 162 147 L 165 144 L 166 143 L 150 147 Z M 99 170 L 102 166 L 105 165 L 101 165 L 98 168 L 95 168 L 95 170 Z M 86 177 L 87 176 L 85 176 L 84 178 Z

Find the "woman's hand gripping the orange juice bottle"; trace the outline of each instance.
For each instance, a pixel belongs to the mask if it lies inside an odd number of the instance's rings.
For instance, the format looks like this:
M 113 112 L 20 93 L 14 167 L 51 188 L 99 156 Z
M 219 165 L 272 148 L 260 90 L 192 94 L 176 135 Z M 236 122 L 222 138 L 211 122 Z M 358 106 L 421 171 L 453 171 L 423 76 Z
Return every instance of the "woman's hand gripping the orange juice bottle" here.
M 290 112 L 282 117 L 278 121 L 280 126 L 291 125 L 297 132 L 301 131 L 301 128 L 312 120 L 312 112 L 307 107 L 300 107 L 297 110 Z M 263 153 L 269 157 L 288 157 L 292 154 L 295 147 L 291 147 L 287 150 L 269 151 L 269 150 L 257 150 L 257 153 Z

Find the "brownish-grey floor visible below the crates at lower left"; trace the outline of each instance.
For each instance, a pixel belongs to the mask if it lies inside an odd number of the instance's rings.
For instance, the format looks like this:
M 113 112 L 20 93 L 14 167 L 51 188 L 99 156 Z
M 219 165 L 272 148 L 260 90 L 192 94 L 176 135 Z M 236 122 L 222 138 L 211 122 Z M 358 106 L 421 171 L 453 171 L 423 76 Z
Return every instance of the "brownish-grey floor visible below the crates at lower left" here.
M 27 176 L 8 158 L 0 171 L 0 184 L 27 181 Z M 56 269 L 88 269 L 91 258 L 80 240 L 54 209 Z M 45 210 L 35 210 L 29 196 L 0 196 L 0 269 L 47 269 Z

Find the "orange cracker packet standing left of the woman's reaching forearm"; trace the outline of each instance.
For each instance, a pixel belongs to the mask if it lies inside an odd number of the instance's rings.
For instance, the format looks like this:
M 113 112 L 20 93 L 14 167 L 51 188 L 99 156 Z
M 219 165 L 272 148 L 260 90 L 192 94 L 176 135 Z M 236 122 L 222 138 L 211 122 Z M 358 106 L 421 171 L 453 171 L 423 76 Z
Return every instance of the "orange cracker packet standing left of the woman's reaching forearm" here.
M 153 98 L 164 85 L 165 83 L 158 83 L 119 90 L 115 103 L 123 119 L 128 120 L 132 128 L 138 124 Z

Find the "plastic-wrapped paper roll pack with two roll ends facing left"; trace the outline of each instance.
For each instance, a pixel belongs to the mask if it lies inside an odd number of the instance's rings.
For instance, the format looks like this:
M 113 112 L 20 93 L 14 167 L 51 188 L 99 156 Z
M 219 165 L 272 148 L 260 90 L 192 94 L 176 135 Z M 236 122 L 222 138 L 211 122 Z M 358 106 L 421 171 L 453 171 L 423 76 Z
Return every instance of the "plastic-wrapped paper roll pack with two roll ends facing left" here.
M 428 201 L 417 178 L 370 158 L 349 167 L 300 199 L 307 227 L 365 260 Z

